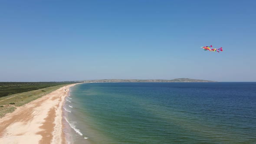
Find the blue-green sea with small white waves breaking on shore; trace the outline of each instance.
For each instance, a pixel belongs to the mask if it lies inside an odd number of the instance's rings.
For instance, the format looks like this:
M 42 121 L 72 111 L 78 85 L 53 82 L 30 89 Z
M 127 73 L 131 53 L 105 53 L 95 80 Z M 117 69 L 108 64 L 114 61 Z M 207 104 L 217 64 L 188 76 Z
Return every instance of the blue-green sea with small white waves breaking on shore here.
M 84 83 L 63 111 L 68 144 L 256 144 L 256 82 Z

